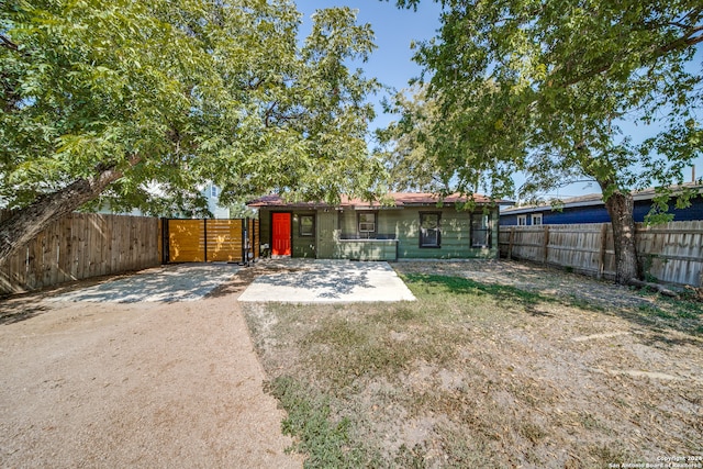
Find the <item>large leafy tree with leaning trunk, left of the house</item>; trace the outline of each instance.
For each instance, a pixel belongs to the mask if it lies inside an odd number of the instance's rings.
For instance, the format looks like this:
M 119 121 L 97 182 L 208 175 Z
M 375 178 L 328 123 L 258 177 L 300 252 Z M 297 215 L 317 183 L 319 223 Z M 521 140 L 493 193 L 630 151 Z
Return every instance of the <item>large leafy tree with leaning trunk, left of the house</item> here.
M 378 85 L 348 64 L 372 31 L 347 8 L 304 43 L 299 25 L 290 0 L 3 1 L 0 263 L 90 201 L 183 208 L 208 180 L 225 203 L 366 194 Z

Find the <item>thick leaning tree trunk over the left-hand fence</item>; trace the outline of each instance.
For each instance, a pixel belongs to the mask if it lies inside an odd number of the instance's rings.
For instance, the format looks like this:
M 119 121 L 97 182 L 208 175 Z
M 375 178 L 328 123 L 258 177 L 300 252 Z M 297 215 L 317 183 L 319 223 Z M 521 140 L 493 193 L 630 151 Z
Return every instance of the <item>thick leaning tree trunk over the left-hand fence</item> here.
M 94 199 L 121 177 L 122 171 L 103 169 L 93 178 L 78 179 L 56 192 L 40 197 L 31 205 L 0 222 L 0 264 L 32 241 L 52 221 Z

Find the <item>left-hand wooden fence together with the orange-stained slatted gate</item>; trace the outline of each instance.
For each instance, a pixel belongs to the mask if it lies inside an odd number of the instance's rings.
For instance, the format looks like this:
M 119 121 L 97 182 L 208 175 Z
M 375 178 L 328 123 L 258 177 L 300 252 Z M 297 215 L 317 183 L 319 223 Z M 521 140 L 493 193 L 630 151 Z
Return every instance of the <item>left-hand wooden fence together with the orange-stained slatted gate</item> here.
M 10 212 L 0 210 L 0 221 Z M 71 213 L 0 264 L 0 293 L 121 273 L 161 263 L 246 263 L 259 257 L 259 222 Z

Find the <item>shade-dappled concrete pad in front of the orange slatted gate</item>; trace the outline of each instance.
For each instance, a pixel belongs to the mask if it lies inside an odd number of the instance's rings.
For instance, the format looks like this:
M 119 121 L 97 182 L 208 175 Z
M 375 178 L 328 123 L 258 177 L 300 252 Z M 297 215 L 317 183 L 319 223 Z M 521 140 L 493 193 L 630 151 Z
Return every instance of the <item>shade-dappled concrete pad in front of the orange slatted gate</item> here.
M 197 301 L 230 280 L 241 268 L 234 264 L 176 264 L 63 293 L 53 301 Z

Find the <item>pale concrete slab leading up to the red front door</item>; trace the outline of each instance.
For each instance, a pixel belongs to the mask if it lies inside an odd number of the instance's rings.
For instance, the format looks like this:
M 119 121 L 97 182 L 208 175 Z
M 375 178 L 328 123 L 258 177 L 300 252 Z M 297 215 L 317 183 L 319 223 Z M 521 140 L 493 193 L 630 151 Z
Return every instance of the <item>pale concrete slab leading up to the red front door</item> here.
M 357 303 L 415 300 L 388 263 L 303 259 L 270 263 L 286 271 L 257 277 L 239 301 Z

